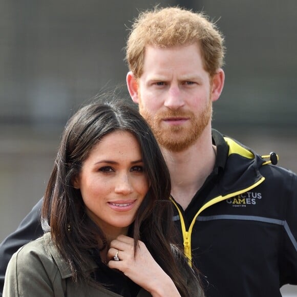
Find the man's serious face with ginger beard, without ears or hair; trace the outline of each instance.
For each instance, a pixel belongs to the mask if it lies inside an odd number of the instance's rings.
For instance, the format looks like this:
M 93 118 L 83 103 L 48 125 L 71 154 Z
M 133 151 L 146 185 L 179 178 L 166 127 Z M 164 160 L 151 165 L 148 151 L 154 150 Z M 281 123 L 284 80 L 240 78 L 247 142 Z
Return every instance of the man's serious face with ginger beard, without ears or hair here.
M 147 46 L 137 101 L 162 147 L 180 152 L 194 144 L 210 128 L 212 113 L 211 83 L 199 46 Z

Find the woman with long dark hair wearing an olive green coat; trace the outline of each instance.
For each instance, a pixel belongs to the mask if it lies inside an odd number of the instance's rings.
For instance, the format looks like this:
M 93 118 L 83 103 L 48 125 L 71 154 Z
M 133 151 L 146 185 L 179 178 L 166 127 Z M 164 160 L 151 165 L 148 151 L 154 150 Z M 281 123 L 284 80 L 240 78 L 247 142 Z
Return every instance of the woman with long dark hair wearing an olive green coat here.
M 203 295 L 169 244 L 170 191 L 158 144 L 136 110 L 119 100 L 80 109 L 47 185 L 49 232 L 14 254 L 4 296 Z

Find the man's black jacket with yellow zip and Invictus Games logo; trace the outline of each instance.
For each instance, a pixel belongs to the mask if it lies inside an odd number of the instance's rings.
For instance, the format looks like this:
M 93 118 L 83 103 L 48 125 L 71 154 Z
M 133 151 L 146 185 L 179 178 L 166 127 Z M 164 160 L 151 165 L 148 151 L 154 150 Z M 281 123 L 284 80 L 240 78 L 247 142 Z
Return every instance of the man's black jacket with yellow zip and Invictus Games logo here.
M 213 141 L 213 173 L 185 211 L 174 201 L 181 242 L 206 296 L 281 296 L 297 284 L 297 176 L 217 131 Z M 0 245 L 1 291 L 11 254 L 42 233 L 38 204 Z

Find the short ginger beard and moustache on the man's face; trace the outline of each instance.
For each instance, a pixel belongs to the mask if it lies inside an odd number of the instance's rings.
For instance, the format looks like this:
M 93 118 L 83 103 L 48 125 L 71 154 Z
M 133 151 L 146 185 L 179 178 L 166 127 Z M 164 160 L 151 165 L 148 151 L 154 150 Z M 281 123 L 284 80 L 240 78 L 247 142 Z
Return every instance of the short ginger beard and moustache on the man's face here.
M 171 152 L 182 152 L 194 144 L 203 133 L 211 120 L 213 105 L 209 98 L 205 109 L 199 114 L 192 111 L 168 110 L 167 112 L 159 112 L 153 117 L 149 111 L 145 110 L 140 99 L 139 112 L 149 123 L 156 139 L 164 149 Z M 162 119 L 170 117 L 189 118 L 190 124 L 167 125 L 164 127 Z

